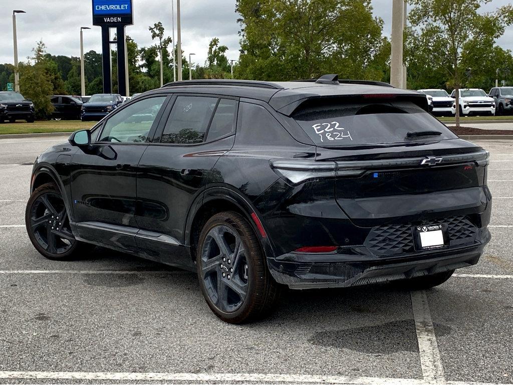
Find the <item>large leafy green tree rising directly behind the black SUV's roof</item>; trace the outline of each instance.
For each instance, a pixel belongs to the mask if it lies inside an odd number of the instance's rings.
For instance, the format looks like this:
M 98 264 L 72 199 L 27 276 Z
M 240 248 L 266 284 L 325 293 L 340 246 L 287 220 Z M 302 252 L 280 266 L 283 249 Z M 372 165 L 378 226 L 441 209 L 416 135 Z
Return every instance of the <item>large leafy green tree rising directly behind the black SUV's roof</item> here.
M 242 27 L 238 77 L 290 80 L 338 73 L 382 80 L 386 71 L 376 71 L 386 40 L 370 0 L 238 0 L 236 11 Z

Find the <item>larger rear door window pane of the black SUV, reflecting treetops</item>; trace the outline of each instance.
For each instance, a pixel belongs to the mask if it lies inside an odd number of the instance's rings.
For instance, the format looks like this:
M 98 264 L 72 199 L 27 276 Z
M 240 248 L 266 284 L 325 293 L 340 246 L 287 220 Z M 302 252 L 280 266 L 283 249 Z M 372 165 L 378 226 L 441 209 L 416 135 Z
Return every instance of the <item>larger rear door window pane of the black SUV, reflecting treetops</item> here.
M 216 97 L 177 97 L 161 142 L 187 145 L 202 143 L 217 103 Z

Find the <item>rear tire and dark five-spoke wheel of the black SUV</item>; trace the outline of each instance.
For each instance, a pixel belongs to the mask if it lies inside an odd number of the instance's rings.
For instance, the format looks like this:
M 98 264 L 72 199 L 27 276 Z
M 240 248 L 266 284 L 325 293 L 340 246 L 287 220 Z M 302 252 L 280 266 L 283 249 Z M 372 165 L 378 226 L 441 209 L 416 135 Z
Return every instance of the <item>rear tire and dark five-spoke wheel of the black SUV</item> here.
M 259 239 L 249 222 L 223 212 L 205 224 L 198 242 L 196 266 L 210 309 L 229 323 L 265 317 L 279 297 Z

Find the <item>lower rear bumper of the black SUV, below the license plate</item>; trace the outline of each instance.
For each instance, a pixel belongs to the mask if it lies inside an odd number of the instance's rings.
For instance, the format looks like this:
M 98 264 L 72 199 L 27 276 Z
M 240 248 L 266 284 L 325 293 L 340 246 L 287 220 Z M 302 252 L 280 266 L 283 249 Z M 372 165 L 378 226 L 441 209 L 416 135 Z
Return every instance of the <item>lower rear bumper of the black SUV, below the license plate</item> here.
M 481 229 L 476 244 L 443 251 L 396 255 L 388 258 L 359 255 L 357 250 L 342 249 L 333 254 L 288 253 L 268 259 L 272 276 L 291 289 L 337 288 L 436 274 L 476 265 L 487 242 L 489 231 Z

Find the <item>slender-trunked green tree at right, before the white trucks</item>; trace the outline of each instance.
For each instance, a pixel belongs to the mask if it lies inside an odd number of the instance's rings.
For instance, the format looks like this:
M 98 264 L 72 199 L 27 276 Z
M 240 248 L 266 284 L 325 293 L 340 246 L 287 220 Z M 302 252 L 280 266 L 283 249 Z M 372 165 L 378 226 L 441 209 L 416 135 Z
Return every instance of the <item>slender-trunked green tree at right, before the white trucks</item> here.
M 504 34 L 506 26 L 513 24 L 513 6 L 508 4 L 494 12 L 479 13 L 481 5 L 489 0 L 411 0 L 411 24 L 420 31 L 412 33 L 418 39 L 422 55 L 433 62 L 435 68 L 445 72 L 447 85 L 456 90 L 469 82 L 462 58 L 469 52 L 483 52 L 493 47 Z M 482 58 L 482 57 L 481 57 Z M 479 58 L 478 62 L 479 63 Z M 460 126 L 460 111 L 456 110 L 456 126 Z

